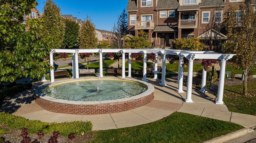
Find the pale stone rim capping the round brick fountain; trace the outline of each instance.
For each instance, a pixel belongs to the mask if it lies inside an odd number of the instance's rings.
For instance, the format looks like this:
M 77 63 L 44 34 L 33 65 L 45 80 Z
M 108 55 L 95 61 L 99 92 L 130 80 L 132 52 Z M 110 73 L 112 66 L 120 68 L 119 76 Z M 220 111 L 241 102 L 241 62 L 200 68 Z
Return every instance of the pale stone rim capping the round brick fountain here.
M 63 100 L 63 99 L 57 99 L 57 98 L 53 98 L 50 96 L 47 96 L 43 93 L 43 90 L 54 86 L 54 85 L 58 85 L 58 84 L 62 84 L 65 82 L 70 82 L 70 81 L 84 81 L 84 80 L 90 80 L 90 79 L 114 79 L 114 80 L 119 80 L 119 81 L 133 81 L 133 82 L 137 82 L 137 83 L 141 83 L 145 86 L 147 86 L 147 90 L 141 94 L 135 95 L 135 96 L 131 96 L 128 98 L 121 98 L 121 99 L 115 99 L 115 100 L 104 100 L 104 101 L 70 101 L 70 100 Z M 50 102 L 55 102 L 55 103 L 63 103 L 63 104 L 74 104 L 74 105 L 97 105 L 97 104 L 111 104 L 111 103 L 120 103 L 120 102 L 127 102 L 127 101 L 131 101 L 131 100 L 135 100 L 135 99 L 140 99 L 143 98 L 145 96 L 148 96 L 150 94 L 152 94 L 154 92 L 155 88 L 153 85 L 151 85 L 150 83 L 144 82 L 144 81 L 140 81 L 137 79 L 132 79 L 132 78 L 118 78 L 118 77 L 85 77 L 85 78 L 75 78 L 75 79 L 66 79 L 66 80 L 62 80 L 62 81 L 55 81 L 55 82 L 51 82 L 51 83 L 47 83 L 45 85 L 42 85 L 40 87 L 38 87 L 35 90 L 35 94 L 37 97 L 50 101 Z

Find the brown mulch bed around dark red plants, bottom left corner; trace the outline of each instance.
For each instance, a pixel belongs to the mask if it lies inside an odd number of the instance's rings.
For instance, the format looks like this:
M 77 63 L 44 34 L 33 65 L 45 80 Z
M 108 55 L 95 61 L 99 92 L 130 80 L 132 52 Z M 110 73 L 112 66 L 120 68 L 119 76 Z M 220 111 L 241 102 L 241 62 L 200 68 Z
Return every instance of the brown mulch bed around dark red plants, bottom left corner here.
M 5 141 L 9 141 L 11 143 L 17 143 L 22 141 L 22 137 L 20 136 L 21 130 L 18 129 L 11 129 L 5 124 L 0 124 L 0 128 L 6 128 L 9 131 L 6 134 L 3 134 L 0 136 L 1 138 L 4 138 Z M 37 139 L 40 143 L 48 143 L 49 138 L 53 136 L 52 133 L 45 134 L 44 137 L 42 137 L 39 140 L 39 136 L 37 136 L 36 133 L 28 133 L 28 137 L 31 139 L 31 142 Z M 58 142 L 61 143 L 77 143 L 77 142 L 85 142 L 87 140 L 90 140 L 94 135 L 92 133 L 85 133 L 84 135 L 77 135 L 74 140 L 69 140 L 68 137 L 59 135 Z

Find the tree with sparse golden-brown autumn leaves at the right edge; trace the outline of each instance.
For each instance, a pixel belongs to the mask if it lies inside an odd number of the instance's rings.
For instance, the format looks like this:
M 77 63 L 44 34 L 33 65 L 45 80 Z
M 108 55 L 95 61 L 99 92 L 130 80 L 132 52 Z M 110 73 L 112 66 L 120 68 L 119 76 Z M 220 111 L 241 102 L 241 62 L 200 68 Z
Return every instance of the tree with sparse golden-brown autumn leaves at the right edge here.
M 256 13 L 251 4 L 251 0 L 244 0 L 241 3 L 240 19 L 237 18 L 238 13 L 232 7 L 225 14 L 228 36 L 225 51 L 226 53 L 236 54 L 231 62 L 236 69 L 242 69 L 243 71 L 243 94 L 245 96 L 247 96 L 247 76 L 256 61 Z

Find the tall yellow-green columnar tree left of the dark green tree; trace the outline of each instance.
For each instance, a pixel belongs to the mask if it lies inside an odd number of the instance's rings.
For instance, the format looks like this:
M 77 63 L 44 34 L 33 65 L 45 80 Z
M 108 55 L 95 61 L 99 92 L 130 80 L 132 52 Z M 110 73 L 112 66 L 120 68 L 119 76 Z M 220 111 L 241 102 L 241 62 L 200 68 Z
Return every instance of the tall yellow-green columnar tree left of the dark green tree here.
M 53 42 L 50 44 L 52 49 L 59 49 L 62 45 L 64 36 L 64 20 L 60 15 L 60 8 L 54 1 L 44 2 L 44 13 L 41 17 L 43 21 L 43 35 L 51 35 Z

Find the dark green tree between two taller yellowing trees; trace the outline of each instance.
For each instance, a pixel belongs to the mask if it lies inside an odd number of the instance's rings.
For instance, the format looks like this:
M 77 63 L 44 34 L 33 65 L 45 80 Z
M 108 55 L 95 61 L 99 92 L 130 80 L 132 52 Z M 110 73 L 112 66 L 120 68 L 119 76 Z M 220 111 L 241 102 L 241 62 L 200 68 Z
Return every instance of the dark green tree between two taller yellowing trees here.
M 79 47 L 78 43 L 78 31 L 80 29 L 79 24 L 75 23 L 71 19 L 66 19 L 65 20 L 65 34 L 64 34 L 64 39 L 62 43 L 62 47 L 65 48 L 75 48 Z M 77 43 L 77 46 L 75 44 Z

